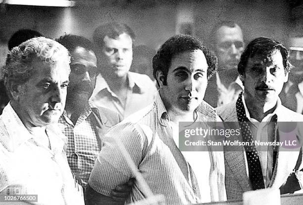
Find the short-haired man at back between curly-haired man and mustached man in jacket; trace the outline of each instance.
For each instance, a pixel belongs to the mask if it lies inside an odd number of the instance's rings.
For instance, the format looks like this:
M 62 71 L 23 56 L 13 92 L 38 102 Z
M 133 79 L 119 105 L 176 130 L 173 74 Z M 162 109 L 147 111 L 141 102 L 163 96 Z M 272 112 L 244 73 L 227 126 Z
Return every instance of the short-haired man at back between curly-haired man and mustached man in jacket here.
M 209 79 L 204 100 L 212 107 L 226 105 L 243 90 L 237 66 L 244 50 L 240 26 L 222 21 L 212 30 L 209 42 L 218 57 L 218 71 Z

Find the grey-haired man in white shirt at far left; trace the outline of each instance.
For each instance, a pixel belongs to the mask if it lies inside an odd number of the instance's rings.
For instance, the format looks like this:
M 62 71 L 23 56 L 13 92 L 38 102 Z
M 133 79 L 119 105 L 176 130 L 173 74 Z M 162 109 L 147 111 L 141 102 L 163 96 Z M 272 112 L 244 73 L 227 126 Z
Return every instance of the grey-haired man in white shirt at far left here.
M 56 123 L 63 113 L 70 56 L 59 43 L 32 38 L 3 68 L 10 102 L 0 116 L 0 194 L 37 195 L 41 205 L 83 205 Z

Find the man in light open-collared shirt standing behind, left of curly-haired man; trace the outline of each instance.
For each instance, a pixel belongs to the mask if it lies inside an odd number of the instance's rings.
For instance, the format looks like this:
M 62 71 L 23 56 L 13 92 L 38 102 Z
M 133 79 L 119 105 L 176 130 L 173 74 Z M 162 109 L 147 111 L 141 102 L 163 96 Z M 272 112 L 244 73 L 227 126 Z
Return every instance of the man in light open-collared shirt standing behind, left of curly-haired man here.
M 106 23 L 93 35 L 99 75 L 92 94 L 97 107 L 105 107 L 123 118 L 153 102 L 156 87 L 145 74 L 131 72 L 133 30 L 122 23 Z

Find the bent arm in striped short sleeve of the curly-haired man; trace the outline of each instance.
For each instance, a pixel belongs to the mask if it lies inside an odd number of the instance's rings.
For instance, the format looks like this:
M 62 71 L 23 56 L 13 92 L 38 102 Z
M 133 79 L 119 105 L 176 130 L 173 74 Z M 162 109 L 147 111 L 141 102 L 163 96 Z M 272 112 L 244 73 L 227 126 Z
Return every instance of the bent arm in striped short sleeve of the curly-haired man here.
M 124 145 L 136 166 L 139 166 L 142 160 L 143 141 L 132 125 L 119 124 L 109 130 L 104 137 L 104 146 L 101 148 L 89 178 L 91 190 L 87 191 L 86 201 L 90 204 L 97 203 L 94 200 L 99 202 L 104 200 L 107 204 L 111 203 L 113 199 L 124 203 L 125 199 L 129 197 L 131 188 L 127 188 L 125 183 L 127 184 L 129 179 L 134 176 L 121 154 L 115 138 L 118 138 Z M 132 187 L 132 185 L 129 187 Z M 92 197 L 90 197 L 91 195 Z M 92 198 L 96 199 L 92 201 Z M 117 201 L 114 202 L 117 203 Z

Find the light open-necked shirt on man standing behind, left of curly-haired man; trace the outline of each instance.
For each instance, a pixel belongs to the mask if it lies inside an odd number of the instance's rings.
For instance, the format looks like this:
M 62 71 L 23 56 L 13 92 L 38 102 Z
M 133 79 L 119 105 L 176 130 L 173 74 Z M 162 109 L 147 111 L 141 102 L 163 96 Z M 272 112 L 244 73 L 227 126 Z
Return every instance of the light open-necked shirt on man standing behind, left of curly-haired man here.
M 106 80 L 99 74 L 96 79 L 96 87 L 91 97 L 95 105 L 113 110 L 123 118 L 152 104 L 156 94 L 156 87 L 151 78 L 135 72 L 127 73 L 128 92 L 126 103 L 123 105 L 118 96 L 112 92 Z

